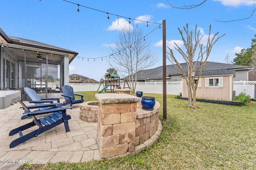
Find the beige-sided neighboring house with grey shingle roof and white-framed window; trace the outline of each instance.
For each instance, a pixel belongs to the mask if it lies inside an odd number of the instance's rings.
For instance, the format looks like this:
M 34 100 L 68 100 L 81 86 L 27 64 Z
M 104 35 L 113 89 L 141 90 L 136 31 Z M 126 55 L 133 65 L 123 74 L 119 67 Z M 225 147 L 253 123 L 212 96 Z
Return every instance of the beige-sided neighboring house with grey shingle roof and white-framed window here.
M 187 64 L 180 65 L 184 72 L 188 73 Z M 234 96 L 233 82 L 248 81 L 248 72 L 252 69 L 253 67 L 250 66 L 207 61 L 199 80 L 196 78 L 196 81 L 199 81 L 196 97 L 231 101 Z M 166 66 L 166 75 L 168 75 L 166 78 L 168 82 L 182 81 L 182 97 L 188 97 L 186 80 L 173 64 Z M 197 75 L 198 73 L 195 76 Z M 162 82 L 162 66 L 138 71 L 137 80 L 138 82 Z

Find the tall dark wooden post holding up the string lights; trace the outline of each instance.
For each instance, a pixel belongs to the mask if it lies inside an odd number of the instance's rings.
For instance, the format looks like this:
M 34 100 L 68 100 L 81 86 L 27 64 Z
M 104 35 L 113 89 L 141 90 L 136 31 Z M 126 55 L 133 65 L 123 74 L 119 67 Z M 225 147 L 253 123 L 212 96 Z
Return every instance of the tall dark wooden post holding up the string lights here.
M 163 20 L 163 118 L 166 119 L 166 23 Z

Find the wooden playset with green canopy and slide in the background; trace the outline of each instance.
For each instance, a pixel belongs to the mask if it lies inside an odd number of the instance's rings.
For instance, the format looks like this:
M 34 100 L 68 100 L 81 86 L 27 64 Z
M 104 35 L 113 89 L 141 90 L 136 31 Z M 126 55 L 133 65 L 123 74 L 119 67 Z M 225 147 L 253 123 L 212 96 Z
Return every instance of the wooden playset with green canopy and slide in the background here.
M 120 81 L 124 81 L 124 88 L 129 88 L 130 89 L 130 86 L 127 82 L 126 79 L 120 79 L 120 76 L 118 76 L 117 74 L 108 74 L 105 76 L 105 80 L 103 82 L 100 83 L 100 86 L 101 84 L 103 84 L 103 89 L 99 91 L 99 88 L 97 90 L 98 93 L 101 93 L 103 91 L 105 92 L 114 92 L 114 89 L 118 89 L 118 88 L 121 88 L 120 87 Z M 125 87 L 125 84 L 128 85 L 128 87 Z

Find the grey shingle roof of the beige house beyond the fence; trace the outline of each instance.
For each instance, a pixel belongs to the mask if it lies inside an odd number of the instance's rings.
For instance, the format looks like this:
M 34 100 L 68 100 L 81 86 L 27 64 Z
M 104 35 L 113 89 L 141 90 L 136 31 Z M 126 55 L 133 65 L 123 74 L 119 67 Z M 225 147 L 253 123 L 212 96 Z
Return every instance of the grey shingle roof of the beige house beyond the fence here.
M 180 63 L 180 65 L 182 66 L 184 72 L 187 73 L 188 72 L 187 63 Z M 228 75 L 234 72 L 234 70 L 251 70 L 251 69 L 253 69 L 253 67 L 207 61 L 204 67 L 204 72 L 201 74 L 201 76 Z M 162 79 L 162 76 L 163 76 L 162 72 L 163 72 L 163 66 L 159 66 L 159 67 L 147 69 L 147 70 L 140 70 L 137 72 L 137 80 Z M 166 75 L 171 76 L 171 75 L 177 75 L 177 74 L 181 74 L 181 73 L 180 73 L 180 70 L 178 70 L 174 66 L 174 64 L 166 66 Z

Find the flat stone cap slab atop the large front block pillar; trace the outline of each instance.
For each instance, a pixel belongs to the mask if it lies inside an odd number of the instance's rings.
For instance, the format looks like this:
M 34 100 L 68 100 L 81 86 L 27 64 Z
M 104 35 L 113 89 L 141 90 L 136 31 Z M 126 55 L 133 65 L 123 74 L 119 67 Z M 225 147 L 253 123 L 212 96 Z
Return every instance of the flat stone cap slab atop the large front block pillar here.
M 114 104 L 114 103 L 136 103 L 140 102 L 141 98 L 132 96 L 130 94 L 95 94 L 95 98 L 100 104 Z

